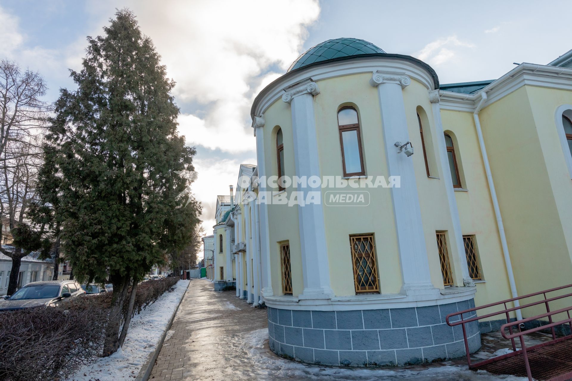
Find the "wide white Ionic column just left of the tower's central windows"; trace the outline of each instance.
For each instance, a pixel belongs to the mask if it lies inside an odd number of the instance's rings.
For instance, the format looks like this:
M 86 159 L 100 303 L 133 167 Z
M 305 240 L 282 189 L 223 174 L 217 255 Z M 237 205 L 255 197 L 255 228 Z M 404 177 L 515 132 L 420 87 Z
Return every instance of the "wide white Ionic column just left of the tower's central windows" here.
M 282 100 L 292 110 L 292 135 L 294 138 L 294 163 L 296 175 L 307 179 L 320 177 L 320 162 L 316 137 L 316 121 L 313 97 L 320 92 L 315 82 L 305 79 L 285 89 Z M 300 299 L 329 299 L 333 296 L 329 283 L 328 253 L 325 241 L 324 211 L 321 189 L 297 184 L 304 200 L 314 194 L 317 203 L 298 205 L 298 222 L 302 254 L 304 291 Z

